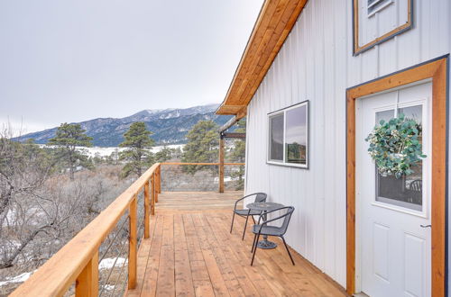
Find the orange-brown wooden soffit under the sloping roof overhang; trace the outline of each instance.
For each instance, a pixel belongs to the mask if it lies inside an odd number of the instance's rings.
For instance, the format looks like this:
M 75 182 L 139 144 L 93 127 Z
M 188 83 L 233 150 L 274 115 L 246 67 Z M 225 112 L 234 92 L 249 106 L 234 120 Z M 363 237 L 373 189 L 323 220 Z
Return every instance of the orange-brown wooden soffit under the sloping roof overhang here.
M 266 0 L 249 38 L 226 99 L 217 114 L 244 117 L 257 91 L 307 0 Z

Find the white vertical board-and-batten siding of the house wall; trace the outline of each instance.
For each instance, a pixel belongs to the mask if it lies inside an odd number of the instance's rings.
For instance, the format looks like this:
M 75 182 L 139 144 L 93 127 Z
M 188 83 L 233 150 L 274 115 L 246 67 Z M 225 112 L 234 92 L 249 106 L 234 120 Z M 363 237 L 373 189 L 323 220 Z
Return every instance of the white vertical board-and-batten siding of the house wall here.
M 344 287 L 345 90 L 449 53 L 450 19 L 448 0 L 414 0 L 412 30 L 354 57 L 352 1 L 310 0 L 249 103 L 245 192 L 293 205 L 288 243 Z M 267 164 L 267 113 L 305 100 L 309 169 Z

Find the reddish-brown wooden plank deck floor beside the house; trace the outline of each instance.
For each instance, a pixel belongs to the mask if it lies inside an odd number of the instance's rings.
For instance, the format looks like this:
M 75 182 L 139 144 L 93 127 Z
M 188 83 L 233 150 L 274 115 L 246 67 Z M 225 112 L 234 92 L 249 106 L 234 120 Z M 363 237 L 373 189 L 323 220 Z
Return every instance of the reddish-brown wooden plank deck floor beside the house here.
M 138 284 L 128 296 L 346 296 L 345 291 L 291 250 L 258 249 L 252 233 L 241 240 L 244 219 L 230 230 L 241 193 L 161 193 L 151 237 L 138 252 Z M 207 200 L 199 199 L 203 197 Z M 227 205 L 227 206 L 226 206 Z M 228 208 L 228 209 L 225 209 Z

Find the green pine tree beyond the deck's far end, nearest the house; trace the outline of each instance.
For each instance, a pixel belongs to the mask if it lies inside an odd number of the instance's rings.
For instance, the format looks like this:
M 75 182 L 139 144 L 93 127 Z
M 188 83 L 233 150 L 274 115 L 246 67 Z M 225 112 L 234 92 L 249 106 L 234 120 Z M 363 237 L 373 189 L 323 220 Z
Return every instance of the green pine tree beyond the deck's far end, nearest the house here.
M 187 134 L 188 143 L 183 149 L 183 162 L 216 162 L 218 157 L 219 133 L 215 121 L 198 121 Z M 195 174 L 205 166 L 189 165 L 184 171 Z M 212 168 L 214 169 L 214 168 Z

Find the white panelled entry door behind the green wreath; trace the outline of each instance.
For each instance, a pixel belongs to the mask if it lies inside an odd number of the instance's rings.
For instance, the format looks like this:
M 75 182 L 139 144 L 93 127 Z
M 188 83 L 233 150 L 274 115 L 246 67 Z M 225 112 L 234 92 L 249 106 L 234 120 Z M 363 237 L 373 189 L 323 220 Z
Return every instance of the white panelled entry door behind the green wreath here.
M 430 296 L 431 86 L 410 85 L 357 100 L 356 281 L 369 296 Z M 400 112 L 421 122 L 427 157 L 411 175 L 383 177 L 364 139 L 376 122 Z

